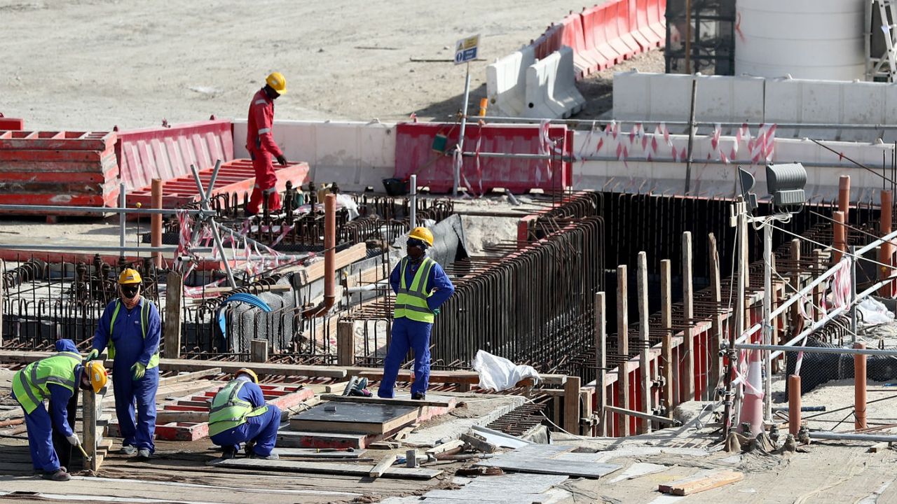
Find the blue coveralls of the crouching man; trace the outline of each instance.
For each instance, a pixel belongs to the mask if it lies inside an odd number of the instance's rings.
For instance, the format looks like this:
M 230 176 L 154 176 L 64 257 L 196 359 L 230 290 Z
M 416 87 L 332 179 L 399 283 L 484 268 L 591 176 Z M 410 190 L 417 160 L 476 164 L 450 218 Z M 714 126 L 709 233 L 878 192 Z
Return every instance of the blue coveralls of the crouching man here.
M 246 377 L 241 376 L 237 379 L 245 379 L 247 382 L 237 393 L 239 399 L 248 401 L 253 408 L 265 405 L 265 395 L 262 394 L 261 388 Z M 268 411 L 258 416 L 250 416 L 245 423 L 215 434 L 212 436 L 212 442 L 222 448 L 233 448 L 234 451 L 239 451 L 240 443 L 253 441 L 256 443 L 256 446 L 252 448 L 253 453 L 257 456 L 269 456 L 271 450 L 274 449 L 274 443 L 277 442 L 280 413 L 280 408 L 274 404 L 268 404 Z

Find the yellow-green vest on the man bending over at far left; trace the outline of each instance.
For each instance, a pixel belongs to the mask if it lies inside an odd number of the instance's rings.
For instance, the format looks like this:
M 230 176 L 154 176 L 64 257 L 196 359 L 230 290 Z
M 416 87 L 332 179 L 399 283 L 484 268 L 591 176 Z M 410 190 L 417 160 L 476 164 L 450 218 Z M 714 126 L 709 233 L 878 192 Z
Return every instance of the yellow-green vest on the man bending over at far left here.
M 80 353 L 59 352 L 31 362 L 16 372 L 13 377 L 13 393 L 25 413 L 30 414 L 36 410 L 50 396 L 47 386 L 51 383 L 65 387 L 74 394 L 77 385 L 74 368 L 82 361 Z

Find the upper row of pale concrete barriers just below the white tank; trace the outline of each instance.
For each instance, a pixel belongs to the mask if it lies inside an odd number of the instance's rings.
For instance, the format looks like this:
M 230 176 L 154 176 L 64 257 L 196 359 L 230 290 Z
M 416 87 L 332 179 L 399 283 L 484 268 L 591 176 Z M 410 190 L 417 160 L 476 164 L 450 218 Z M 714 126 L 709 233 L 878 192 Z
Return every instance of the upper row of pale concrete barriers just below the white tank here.
M 614 74 L 614 119 L 687 121 L 692 78 L 695 118 L 705 122 L 883 125 L 897 120 L 897 84 L 722 75 Z M 679 128 L 676 133 L 684 133 Z M 729 133 L 724 131 L 723 133 Z M 885 142 L 897 129 L 780 129 L 779 136 Z

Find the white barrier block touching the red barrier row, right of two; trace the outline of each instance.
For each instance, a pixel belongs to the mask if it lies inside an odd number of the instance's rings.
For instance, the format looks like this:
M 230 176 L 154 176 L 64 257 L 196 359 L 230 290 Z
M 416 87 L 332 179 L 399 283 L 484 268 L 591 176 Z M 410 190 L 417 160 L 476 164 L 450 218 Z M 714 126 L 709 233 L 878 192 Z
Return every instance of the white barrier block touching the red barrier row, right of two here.
M 586 105 L 576 89 L 573 49 L 562 47 L 527 68 L 525 117 L 570 117 Z

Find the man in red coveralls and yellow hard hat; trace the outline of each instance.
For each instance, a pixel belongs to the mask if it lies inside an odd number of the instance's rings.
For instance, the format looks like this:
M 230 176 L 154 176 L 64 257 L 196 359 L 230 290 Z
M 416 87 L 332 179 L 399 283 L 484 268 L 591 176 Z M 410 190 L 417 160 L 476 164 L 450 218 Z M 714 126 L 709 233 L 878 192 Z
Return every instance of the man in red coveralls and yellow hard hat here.
M 277 194 L 277 174 L 271 156 L 281 166 L 286 166 L 280 147 L 274 142 L 274 100 L 286 92 L 286 79 L 280 72 L 268 75 L 265 87 L 258 90 L 249 104 L 249 117 L 246 129 L 246 150 L 252 159 L 252 168 L 256 171 L 256 185 L 252 187 L 252 196 L 246 213 L 254 215 L 262 207 L 262 199 L 266 198 L 268 209 L 272 212 L 280 210 L 280 195 Z

